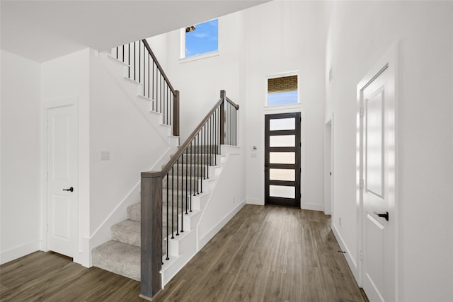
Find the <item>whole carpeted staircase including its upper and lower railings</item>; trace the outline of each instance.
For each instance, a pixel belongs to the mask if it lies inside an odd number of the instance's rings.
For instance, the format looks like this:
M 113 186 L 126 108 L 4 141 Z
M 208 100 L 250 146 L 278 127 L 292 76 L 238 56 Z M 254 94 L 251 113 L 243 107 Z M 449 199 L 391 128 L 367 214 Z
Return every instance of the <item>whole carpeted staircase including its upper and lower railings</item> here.
M 146 40 L 116 47 L 109 57 L 122 64 L 125 79 L 137 85 L 138 103 L 142 104 L 137 109 L 152 113 L 147 118 L 158 125 L 156 132 L 171 130 L 162 134 L 168 135 L 170 149 L 158 161 L 160 171 L 142 172 L 141 201 L 127 203 L 127 220 L 105 223 L 105 231 L 113 224 L 111 240 L 93 248 L 92 265 L 141 281 L 141 296 L 151 298 L 219 231 L 225 219 L 240 209 L 229 193 L 217 194 L 213 203 L 211 200 L 229 158 L 221 154 L 221 147 L 237 146 L 239 105 L 221 91 L 217 103 L 188 139 L 168 156 L 179 135 L 179 92 L 171 86 Z M 235 175 L 231 168 L 227 170 L 231 182 Z M 124 211 L 127 204 L 117 209 Z M 218 207 L 224 211 L 214 211 L 213 216 L 212 209 Z M 211 214 L 204 217 L 207 209 Z M 115 213 L 115 217 L 123 216 L 120 211 Z M 200 231 L 204 232 L 202 238 L 198 238 Z

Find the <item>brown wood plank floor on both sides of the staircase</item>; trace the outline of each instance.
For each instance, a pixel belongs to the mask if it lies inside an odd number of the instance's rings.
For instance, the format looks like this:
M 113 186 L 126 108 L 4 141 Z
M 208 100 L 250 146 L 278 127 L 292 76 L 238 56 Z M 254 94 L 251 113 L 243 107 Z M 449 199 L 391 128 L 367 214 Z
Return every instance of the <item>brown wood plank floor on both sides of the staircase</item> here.
M 153 301 L 367 301 L 319 211 L 246 205 Z M 0 301 L 145 301 L 139 282 L 54 252 L 0 266 Z

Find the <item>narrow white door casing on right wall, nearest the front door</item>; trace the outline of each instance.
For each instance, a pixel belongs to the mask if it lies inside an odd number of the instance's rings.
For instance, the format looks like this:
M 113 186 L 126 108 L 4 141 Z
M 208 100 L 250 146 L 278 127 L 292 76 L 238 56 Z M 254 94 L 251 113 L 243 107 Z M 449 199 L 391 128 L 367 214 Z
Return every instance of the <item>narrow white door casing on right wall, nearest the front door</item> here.
M 329 178 L 330 186 L 327 185 Z M 333 114 L 324 125 L 324 214 L 333 215 Z

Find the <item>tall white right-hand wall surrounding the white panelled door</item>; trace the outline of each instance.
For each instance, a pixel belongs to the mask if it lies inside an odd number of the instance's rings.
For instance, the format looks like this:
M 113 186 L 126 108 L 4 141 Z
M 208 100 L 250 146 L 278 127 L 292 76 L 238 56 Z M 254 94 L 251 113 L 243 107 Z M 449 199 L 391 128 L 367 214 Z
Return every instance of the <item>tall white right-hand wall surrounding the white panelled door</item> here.
M 398 42 L 397 300 L 452 301 L 453 4 L 329 5 L 325 71 L 327 78 L 333 67 L 333 81 L 326 84 L 326 120 L 335 114 L 333 226 L 350 253 L 347 257 L 357 262 L 356 86 Z

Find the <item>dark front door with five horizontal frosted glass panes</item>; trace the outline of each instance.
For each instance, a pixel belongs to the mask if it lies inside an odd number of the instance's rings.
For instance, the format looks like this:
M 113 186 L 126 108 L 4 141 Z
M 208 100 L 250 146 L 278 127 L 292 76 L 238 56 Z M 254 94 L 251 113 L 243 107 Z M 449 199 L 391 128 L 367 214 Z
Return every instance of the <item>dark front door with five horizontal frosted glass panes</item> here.
M 300 208 L 300 112 L 265 115 L 265 204 Z

